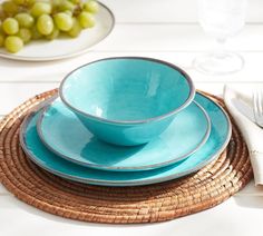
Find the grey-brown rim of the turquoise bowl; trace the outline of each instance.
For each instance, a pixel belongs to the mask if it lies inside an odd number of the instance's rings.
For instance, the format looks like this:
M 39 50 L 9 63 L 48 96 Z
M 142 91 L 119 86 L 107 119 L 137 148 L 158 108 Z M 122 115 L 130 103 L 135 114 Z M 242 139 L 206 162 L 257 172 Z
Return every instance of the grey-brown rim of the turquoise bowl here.
M 64 87 L 65 87 L 66 82 L 68 81 L 69 77 L 74 72 L 76 72 L 77 70 L 79 70 L 79 69 L 81 69 L 84 67 L 87 67 L 89 65 L 92 65 L 92 63 L 96 63 L 96 62 L 99 62 L 99 61 L 118 60 L 118 59 L 135 59 L 135 60 L 153 61 L 153 62 L 157 62 L 157 63 L 162 63 L 162 65 L 165 65 L 167 67 L 171 67 L 172 69 L 174 69 L 174 70 L 178 71 L 179 73 L 182 73 L 184 76 L 185 80 L 187 81 L 188 87 L 189 87 L 189 95 L 188 95 L 188 97 L 186 98 L 186 100 L 185 100 L 185 102 L 183 105 L 181 105 L 179 107 L 177 107 L 176 109 L 174 109 L 174 110 L 172 110 L 169 112 L 166 112 L 166 114 L 163 114 L 163 115 L 159 115 L 159 116 L 155 116 L 155 117 L 150 117 L 150 118 L 147 118 L 147 119 L 139 119 L 139 120 L 115 120 L 115 119 L 107 119 L 107 118 L 98 117 L 98 116 L 88 114 L 88 112 L 86 112 L 86 111 L 84 111 L 81 109 L 76 108 L 74 105 L 71 105 L 66 99 L 66 96 L 64 94 Z M 59 88 L 58 88 L 58 92 L 59 92 L 59 97 L 60 97 L 61 101 L 69 109 L 71 109 L 72 111 L 75 111 L 77 114 L 80 114 L 80 115 L 82 115 L 85 117 L 88 117 L 88 118 L 90 118 L 92 120 L 99 120 L 99 121 L 103 121 L 103 122 L 118 124 L 118 125 L 135 125 L 135 124 L 147 124 L 147 122 L 155 121 L 155 120 L 157 121 L 157 120 L 160 120 L 163 118 L 173 116 L 173 115 L 177 114 L 178 111 L 183 110 L 185 107 L 187 107 L 193 101 L 193 99 L 195 97 L 195 87 L 194 87 L 193 80 L 191 79 L 188 73 L 186 73 L 183 69 L 181 69 L 179 67 L 175 66 L 174 63 L 171 63 L 171 62 L 167 62 L 167 61 L 164 61 L 164 60 L 160 60 L 160 59 L 147 58 L 147 57 L 108 57 L 108 58 L 103 58 L 103 59 L 98 59 L 98 60 L 85 63 L 85 65 L 82 65 L 80 67 L 77 67 L 76 69 L 74 69 L 69 73 L 67 73 L 65 76 L 65 78 L 62 79 Z

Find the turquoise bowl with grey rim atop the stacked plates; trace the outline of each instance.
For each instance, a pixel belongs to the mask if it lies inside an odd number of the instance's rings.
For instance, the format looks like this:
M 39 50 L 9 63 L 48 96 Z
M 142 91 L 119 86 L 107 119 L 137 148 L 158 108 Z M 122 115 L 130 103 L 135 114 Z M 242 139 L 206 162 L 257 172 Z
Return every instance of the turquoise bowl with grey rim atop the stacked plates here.
M 70 72 L 61 100 L 99 139 L 121 146 L 146 144 L 194 99 L 191 78 L 150 58 L 107 58 Z

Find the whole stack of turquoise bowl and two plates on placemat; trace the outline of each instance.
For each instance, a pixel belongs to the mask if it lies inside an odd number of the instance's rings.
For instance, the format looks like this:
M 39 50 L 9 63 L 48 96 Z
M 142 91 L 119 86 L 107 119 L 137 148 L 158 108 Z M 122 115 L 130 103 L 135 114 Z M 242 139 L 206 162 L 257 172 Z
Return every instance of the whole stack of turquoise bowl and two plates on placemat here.
M 140 57 L 107 58 L 70 72 L 59 95 L 22 124 L 29 158 L 60 177 L 136 186 L 175 179 L 214 160 L 231 124 L 181 68 Z

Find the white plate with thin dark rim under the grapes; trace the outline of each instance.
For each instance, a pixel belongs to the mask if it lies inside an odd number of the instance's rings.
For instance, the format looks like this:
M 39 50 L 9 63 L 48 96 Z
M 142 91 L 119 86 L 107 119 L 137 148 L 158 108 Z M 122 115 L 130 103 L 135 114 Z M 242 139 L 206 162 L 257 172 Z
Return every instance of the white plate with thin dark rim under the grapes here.
M 18 53 L 9 53 L 1 48 L 0 57 L 26 61 L 50 61 L 76 57 L 89 51 L 90 47 L 100 42 L 111 32 L 115 24 L 113 12 L 103 3 L 99 2 L 99 12 L 95 16 L 96 26 L 82 30 L 78 38 L 31 41 Z

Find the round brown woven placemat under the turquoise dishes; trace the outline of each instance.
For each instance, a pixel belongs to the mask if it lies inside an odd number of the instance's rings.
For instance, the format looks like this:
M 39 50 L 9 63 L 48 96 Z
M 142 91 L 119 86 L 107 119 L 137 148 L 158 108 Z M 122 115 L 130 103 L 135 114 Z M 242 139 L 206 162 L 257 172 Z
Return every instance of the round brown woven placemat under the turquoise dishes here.
M 36 208 L 92 223 L 164 222 L 214 207 L 252 178 L 247 148 L 234 122 L 226 150 L 205 168 L 181 179 L 143 187 L 99 187 L 53 176 L 26 157 L 19 145 L 19 127 L 31 108 L 55 92 L 29 99 L 0 122 L 0 181 Z M 224 106 L 218 98 L 213 99 Z

